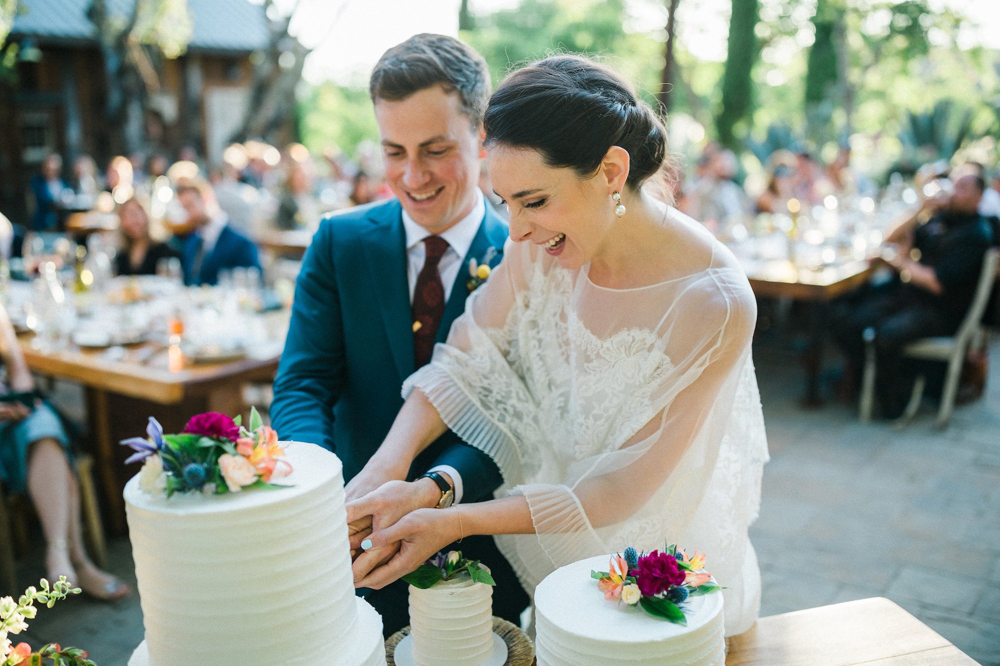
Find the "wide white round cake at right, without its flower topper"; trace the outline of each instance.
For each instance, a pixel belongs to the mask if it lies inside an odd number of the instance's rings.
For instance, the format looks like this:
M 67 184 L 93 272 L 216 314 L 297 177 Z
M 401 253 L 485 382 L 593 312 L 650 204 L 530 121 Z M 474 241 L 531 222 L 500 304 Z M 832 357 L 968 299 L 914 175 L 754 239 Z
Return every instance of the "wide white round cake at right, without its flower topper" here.
M 609 556 L 574 562 L 535 588 L 535 654 L 539 666 L 671 664 L 722 666 L 722 593 L 684 602 L 687 625 L 608 601 L 591 571 L 607 571 Z

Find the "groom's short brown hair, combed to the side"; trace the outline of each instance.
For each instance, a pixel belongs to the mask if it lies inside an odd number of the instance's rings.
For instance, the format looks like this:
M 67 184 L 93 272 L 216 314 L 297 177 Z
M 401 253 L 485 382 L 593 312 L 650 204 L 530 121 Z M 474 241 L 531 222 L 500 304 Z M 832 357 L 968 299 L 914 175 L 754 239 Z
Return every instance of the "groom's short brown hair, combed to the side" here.
M 462 112 L 479 126 L 490 98 L 489 69 L 481 55 L 454 37 L 422 33 L 393 46 L 375 64 L 368 93 L 372 102 L 395 102 L 436 85 L 457 93 Z

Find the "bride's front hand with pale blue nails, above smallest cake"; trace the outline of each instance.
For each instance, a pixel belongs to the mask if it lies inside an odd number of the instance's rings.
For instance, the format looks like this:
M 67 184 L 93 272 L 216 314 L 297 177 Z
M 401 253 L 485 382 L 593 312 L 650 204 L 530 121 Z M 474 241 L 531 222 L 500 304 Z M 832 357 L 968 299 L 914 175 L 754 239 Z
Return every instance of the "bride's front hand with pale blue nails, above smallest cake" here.
M 369 548 L 355 560 L 354 587 L 381 589 L 415 570 L 449 543 L 459 539 L 458 507 L 454 509 L 418 509 L 394 525 L 375 530 L 368 537 Z M 388 562 L 376 566 L 364 558 L 384 559 L 386 548 L 398 545 L 399 552 Z M 367 567 L 367 569 L 365 569 Z M 369 571 L 370 569 L 370 571 Z

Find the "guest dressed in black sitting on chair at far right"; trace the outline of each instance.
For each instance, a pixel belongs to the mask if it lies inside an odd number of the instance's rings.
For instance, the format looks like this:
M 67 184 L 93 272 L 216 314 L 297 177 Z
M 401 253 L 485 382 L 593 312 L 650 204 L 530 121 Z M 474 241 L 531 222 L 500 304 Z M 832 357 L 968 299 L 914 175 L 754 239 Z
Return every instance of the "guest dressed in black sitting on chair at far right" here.
M 874 332 L 877 389 L 888 418 L 902 413 L 910 392 L 900 350 L 920 338 L 958 331 L 993 242 L 989 222 L 977 212 L 986 187 L 980 171 L 965 165 L 952 172 L 951 182 L 951 194 L 927 199 L 886 236 L 883 257 L 894 278 L 841 303 L 834 317 L 833 335 L 847 357 L 847 381 L 861 367 L 865 330 Z

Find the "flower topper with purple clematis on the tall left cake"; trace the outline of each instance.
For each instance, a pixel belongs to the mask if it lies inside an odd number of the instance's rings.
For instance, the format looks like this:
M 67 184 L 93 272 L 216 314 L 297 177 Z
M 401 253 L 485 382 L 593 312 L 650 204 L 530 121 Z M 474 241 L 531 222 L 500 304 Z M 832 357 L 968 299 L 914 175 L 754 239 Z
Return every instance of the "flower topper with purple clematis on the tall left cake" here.
M 145 460 L 139 489 L 150 495 L 221 495 L 245 488 L 280 488 L 272 481 L 292 471 L 284 460 L 278 433 L 264 425 L 255 408 L 250 410 L 249 428 L 239 416 L 232 419 L 208 412 L 192 417 L 177 435 L 164 435 L 150 417 L 146 433 L 148 439 L 132 437 L 122 444 L 136 451 L 127 462 Z

